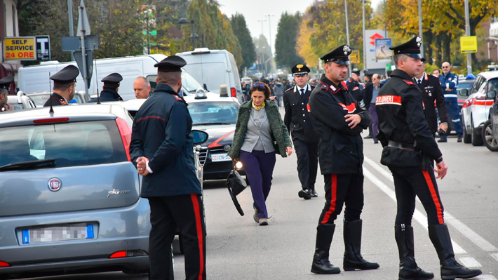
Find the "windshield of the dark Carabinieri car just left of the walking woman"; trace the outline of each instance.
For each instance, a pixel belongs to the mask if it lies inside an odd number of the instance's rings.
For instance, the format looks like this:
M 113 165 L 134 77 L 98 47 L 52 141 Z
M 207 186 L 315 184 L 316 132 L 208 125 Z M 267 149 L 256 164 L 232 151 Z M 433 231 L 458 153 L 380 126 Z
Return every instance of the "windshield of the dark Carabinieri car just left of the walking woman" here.
M 195 125 L 236 124 L 238 104 L 236 102 L 190 102 L 190 116 Z

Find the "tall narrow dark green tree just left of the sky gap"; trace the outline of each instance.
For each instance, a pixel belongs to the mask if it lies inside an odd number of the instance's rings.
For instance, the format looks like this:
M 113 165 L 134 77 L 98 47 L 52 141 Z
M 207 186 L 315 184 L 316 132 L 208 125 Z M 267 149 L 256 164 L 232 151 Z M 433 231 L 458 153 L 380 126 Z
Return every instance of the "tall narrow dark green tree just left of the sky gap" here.
M 253 38 L 250 36 L 250 31 L 245 23 L 245 18 L 242 14 L 236 13 L 231 16 L 231 29 L 234 30 L 238 38 L 238 43 L 241 44 L 243 63 L 238 69 L 238 73 L 242 76 L 243 69 L 250 67 L 256 60 L 256 52 L 253 43 Z

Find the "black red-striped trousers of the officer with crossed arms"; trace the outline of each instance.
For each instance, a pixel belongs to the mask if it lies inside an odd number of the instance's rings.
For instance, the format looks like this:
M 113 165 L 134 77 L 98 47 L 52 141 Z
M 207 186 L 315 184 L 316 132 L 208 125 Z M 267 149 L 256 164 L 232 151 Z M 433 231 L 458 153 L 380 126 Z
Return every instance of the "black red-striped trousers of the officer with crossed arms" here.
M 344 209 L 344 220 L 360 219 L 363 210 L 363 174 L 324 174 L 325 206 L 320 215 L 320 224 L 333 224 Z

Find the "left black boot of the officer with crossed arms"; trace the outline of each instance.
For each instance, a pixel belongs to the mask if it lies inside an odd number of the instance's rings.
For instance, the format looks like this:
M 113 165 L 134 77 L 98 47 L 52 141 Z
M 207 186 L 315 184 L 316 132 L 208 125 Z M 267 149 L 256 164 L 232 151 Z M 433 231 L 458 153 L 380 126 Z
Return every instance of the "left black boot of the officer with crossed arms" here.
M 341 272 L 339 267 L 335 267 L 328 260 L 328 251 L 330 251 L 334 230 L 334 224 L 320 224 L 316 227 L 316 246 L 311 272 L 317 274 L 338 274 Z

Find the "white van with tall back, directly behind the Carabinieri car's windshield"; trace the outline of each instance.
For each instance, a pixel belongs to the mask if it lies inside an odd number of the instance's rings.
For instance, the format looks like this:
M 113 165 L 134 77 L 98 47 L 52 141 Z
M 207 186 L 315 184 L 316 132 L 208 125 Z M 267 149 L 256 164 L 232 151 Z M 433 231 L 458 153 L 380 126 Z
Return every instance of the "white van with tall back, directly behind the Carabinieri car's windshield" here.
M 217 91 L 220 85 L 227 85 L 231 97 L 237 98 L 243 103 L 241 78 L 234 55 L 227 50 L 210 50 L 208 48 L 196 48 L 194 51 L 177 53 L 187 65 L 183 68 L 189 72 L 194 79 L 205 86 L 208 91 Z

